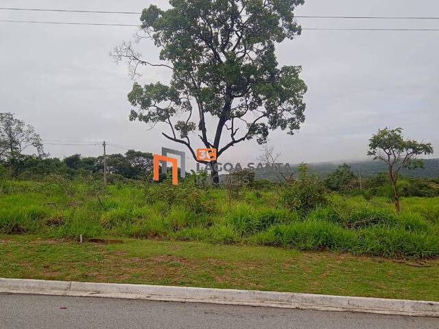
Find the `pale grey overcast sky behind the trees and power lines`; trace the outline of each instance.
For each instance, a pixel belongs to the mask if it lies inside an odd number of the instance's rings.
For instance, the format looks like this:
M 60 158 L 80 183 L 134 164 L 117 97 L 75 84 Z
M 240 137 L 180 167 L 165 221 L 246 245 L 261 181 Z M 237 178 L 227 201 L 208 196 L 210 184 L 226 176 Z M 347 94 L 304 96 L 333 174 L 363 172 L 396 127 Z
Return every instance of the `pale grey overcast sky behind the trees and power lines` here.
M 163 0 L 2 0 L 0 7 L 140 12 Z M 305 0 L 297 15 L 439 16 L 439 1 Z M 139 23 L 137 15 L 0 10 L 0 20 Z M 437 28 L 439 21 L 297 19 L 302 27 Z M 124 153 L 161 147 L 185 151 L 128 120 L 133 80 L 110 51 L 131 40 L 136 27 L 36 25 L 0 22 L 0 112 L 32 124 L 51 156 Z M 405 136 L 439 147 L 439 32 L 309 31 L 276 47 L 279 65 L 301 65 L 308 86 L 306 121 L 294 136 L 270 133 L 268 145 L 282 162 L 366 159 L 368 138 L 379 128 L 403 127 Z M 143 58 L 158 62 L 149 41 Z M 148 68 L 136 81 L 169 82 L 163 69 Z M 195 136 L 193 136 L 195 139 Z M 79 143 L 81 142 L 81 143 Z M 57 145 L 54 145 L 57 144 Z M 60 145 L 83 144 L 83 145 Z M 222 162 L 251 162 L 256 141 L 239 143 Z M 432 156 L 438 157 L 438 151 Z

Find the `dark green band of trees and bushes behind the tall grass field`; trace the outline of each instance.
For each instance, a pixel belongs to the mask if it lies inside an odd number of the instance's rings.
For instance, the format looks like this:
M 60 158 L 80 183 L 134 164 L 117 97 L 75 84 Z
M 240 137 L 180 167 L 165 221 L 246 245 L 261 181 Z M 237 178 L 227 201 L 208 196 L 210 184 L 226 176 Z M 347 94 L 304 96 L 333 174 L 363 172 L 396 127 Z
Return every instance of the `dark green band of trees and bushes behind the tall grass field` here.
M 126 154 L 110 154 L 106 156 L 109 181 L 123 180 L 152 180 L 154 156 L 151 153 L 129 150 Z M 309 166 L 307 166 L 309 170 Z M 14 165 L 0 161 L 0 178 L 18 180 L 43 180 L 48 175 L 62 175 L 64 178 L 90 178 L 101 180 L 104 173 L 103 156 L 82 157 L 73 154 L 64 159 L 41 158 L 38 156 L 20 156 Z M 247 172 L 242 174 L 249 175 Z M 233 173 L 239 175 L 239 173 Z M 254 172 L 251 188 L 271 190 L 282 185 L 281 182 L 258 179 Z M 392 197 L 392 186 L 388 173 L 381 172 L 364 178 L 355 174 L 351 166 L 342 164 L 335 171 L 321 177 L 309 170 L 309 175 L 315 175 L 318 184 L 327 192 L 334 191 L 345 195 L 363 195 L 366 199 L 378 197 Z M 300 180 L 298 173 L 288 176 L 291 180 Z M 161 177 L 161 180 L 165 179 Z M 224 180 L 224 179 L 223 179 Z M 202 180 L 200 180 L 202 182 Z M 286 182 L 285 182 L 286 183 Z M 439 196 L 439 178 L 414 178 L 403 175 L 398 182 L 401 197 L 436 197 Z

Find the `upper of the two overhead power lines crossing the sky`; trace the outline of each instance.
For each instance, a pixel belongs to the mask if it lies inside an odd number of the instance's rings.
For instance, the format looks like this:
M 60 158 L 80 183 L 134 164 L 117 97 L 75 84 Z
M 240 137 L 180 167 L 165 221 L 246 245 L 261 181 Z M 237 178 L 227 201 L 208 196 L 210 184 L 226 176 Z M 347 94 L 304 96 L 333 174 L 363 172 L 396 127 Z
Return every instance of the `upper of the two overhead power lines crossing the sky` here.
M 43 9 L 43 8 L 0 8 L 0 10 L 19 10 L 32 12 L 75 12 L 89 14 L 134 14 L 139 15 L 141 12 L 118 12 L 112 10 L 67 10 L 67 9 Z M 242 15 L 248 16 L 248 15 Z M 327 15 L 297 15 L 300 19 L 415 19 L 415 20 L 439 20 L 434 16 L 327 16 Z

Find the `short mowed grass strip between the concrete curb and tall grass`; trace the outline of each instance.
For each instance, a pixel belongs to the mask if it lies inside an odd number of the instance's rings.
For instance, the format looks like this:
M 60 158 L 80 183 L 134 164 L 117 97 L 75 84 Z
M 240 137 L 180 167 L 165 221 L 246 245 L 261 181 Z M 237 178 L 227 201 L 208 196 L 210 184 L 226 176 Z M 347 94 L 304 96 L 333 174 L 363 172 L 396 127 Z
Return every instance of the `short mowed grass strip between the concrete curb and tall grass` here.
M 439 301 L 439 260 L 178 241 L 0 235 L 0 277 Z

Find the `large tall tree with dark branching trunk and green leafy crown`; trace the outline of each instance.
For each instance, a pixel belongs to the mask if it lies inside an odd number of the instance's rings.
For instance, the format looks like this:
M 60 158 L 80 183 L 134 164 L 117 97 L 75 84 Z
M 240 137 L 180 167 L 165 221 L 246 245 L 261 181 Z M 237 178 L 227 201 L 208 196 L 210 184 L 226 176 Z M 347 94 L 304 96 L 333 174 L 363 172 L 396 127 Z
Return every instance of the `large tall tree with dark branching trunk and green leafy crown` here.
M 265 143 L 270 130 L 293 134 L 299 129 L 307 86 L 300 66 L 278 67 L 274 46 L 300 34 L 293 11 L 303 0 L 169 3 L 169 10 L 156 5 L 143 10 L 137 38 L 152 39 L 162 62 L 141 59 L 131 42 L 113 51 L 117 60 L 128 61 L 134 76 L 140 65 L 163 66 L 172 73 L 167 85 L 134 83 L 128 94 L 131 120 L 166 123 L 170 133 L 163 136 L 185 145 L 195 160 L 190 138 L 195 131 L 201 145 L 217 149 L 219 157 L 241 141 Z M 215 183 L 216 163 L 210 162 Z

